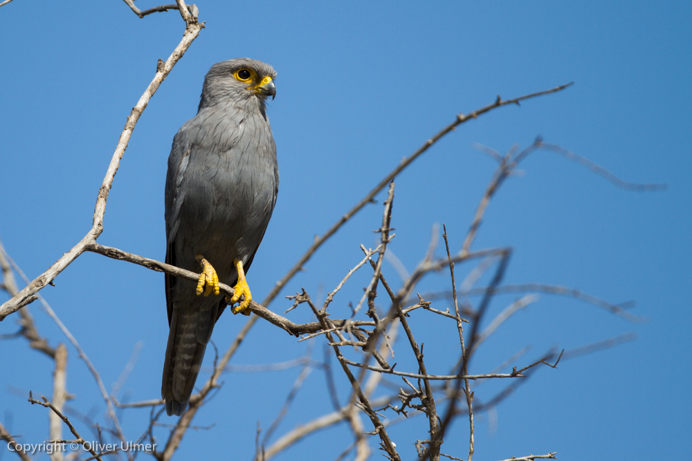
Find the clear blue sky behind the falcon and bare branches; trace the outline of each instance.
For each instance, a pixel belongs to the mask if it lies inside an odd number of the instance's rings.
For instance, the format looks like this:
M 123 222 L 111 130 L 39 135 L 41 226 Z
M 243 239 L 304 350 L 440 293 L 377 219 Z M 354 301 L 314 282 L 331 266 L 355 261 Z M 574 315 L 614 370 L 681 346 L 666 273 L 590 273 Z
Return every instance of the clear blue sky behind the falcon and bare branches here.
M 139 0 L 141 9 L 154 6 Z M 636 301 L 629 323 L 562 297 L 516 314 L 480 350 L 473 373 L 493 369 L 518 350 L 528 363 L 551 346 L 576 348 L 627 332 L 637 339 L 539 370 L 493 415 L 478 415 L 477 460 L 557 451 L 561 460 L 680 457 L 689 450 L 691 376 L 687 333 L 692 321 L 692 8 L 686 2 L 419 2 L 198 3 L 206 21 L 197 41 L 154 95 L 136 126 L 109 196 L 99 238 L 163 260 L 163 184 L 173 135 L 197 109 L 203 76 L 215 62 L 253 57 L 277 70 L 277 97 L 268 113 L 281 184 L 264 243 L 249 272 L 256 299 L 386 173 L 459 112 L 574 81 L 574 86 L 479 117 L 435 145 L 397 177 L 390 248 L 409 271 L 424 256 L 430 230 L 444 223 L 459 248 L 495 164 L 473 143 L 506 152 L 515 143 L 546 142 L 587 156 L 623 180 L 664 182 L 662 192 L 614 187 L 577 164 L 539 152 L 493 199 L 475 248 L 511 246 L 507 283 L 553 283 L 613 303 Z M 125 117 L 156 69 L 178 43 L 177 12 L 139 19 L 119 1 L 39 3 L 0 8 L 0 238 L 31 278 L 77 243 L 91 227 L 95 197 Z M 378 196 L 379 203 L 385 197 Z M 306 288 L 320 299 L 376 245 L 371 230 L 381 205 L 366 207 L 295 277 L 282 296 Z M 444 246 L 436 254 L 444 254 Z M 459 265 L 459 276 L 473 268 Z M 401 283 L 394 268 L 385 275 Z M 356 274 L 331 306 L 349 313 L 370 274 Z M 167 338 L 163 276 L 85 254 L 43 294 L 97 364 L 107 386 L 118 380 L 143 341 L 125 389 L 131 400 L 158 397 Z M 448 274 L 428 276 L 420 292 L 444 290 Z M 321 293 L 321 295 L 320 295 Z M 497 314 L 514 296 L 497 297 Z M 385 306 L 384 300 L 381 305 Z M 277 298 L 282 312 L 289 301 Z M 435 307 L 435 305 L 434 305 Z M 65 339 L 36 305 L 42 335 Z M 439 301 L 438 308 L 446 308 Z M 293 321 L 309 321 L 303 308 Z M 412 314 L 426 359 L 440 373 L 458 355 L 453 325 Z M 226 350 L 245 317 L 224 314 L 212 337 Z M 14 332 L 12 317 L 0 334 Z M 314 345 L 322 358 L 323 341 Z M 414 367 L 401 350 L 399 367 Z M 260 322 L 232 364 L 270 364 L 304 355 L 307 342 Z M 103 404 L 84 364 L 69 348 L 70 404 L 103 419 Z M 44 440 L 43 408 L 24 392 L 51 393 L 51 362 L 26 341 L 0 341 L 0 417 L 23 442 Z M 206 363 L 211 364 L 208 353 Z M 332 361 L 334 364 L 334 360 Z M 408 364 L 408 365 L 406 365 Z M 403 370 L 403 367 L 401 368 Z M 299 368 L 229 373 L 190 431 L 179 459 L 250 459 L 257 420 L 266 428 Z M 341 399 L 347 395 L 337 373 Z M 198 380 L 201 381 L 201 376 Z M 392 380 L 395 382 L 395 380 Z M 398 382 L 401 383 L 401 382 Z M 397 383 L 397 386 L 399 384 Z M 493 387 L 495 386 L 495 387 Z M 325 379 L 314 370 L 277 435 L 331 411 Z M 500 384 L 484 384 L 488 399 Z M 131 439 L 148 412 L 129 410 Z M 84 425 L 80 426 L 88 432 Z M 165 429 L 160 429 L 160 438 Z M 418 417 L 392 428 L 403 459 L 414 459 L 426 437 Z M 443 447 L 467 451 L 464 420 Z M 219 442 L 221 441 L 221 442 Z M 351 442 L 344 426 L 328 429 L 282 454 L 282 460 L 333 459 Z M 376 441 L 371 444 L 376 453 Z M 2 453 L 3 459 L 14 455 Z M 322 459 L 321 457 L 318 457 Z M 352 459 L 350 455 L 347 459 Z M 47 459 L 47 456 L 40 459 Z

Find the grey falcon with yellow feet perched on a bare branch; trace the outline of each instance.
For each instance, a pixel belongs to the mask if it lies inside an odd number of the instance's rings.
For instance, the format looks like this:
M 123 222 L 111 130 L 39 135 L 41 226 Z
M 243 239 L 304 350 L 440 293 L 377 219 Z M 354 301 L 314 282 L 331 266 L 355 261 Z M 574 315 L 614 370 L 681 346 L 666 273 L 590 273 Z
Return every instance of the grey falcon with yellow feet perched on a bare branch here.
M 197 115 L 173 138 L 165 183 L 165 262 L 199 281 L 165 275 L 168 343 L 161 397 L 167 415 L 190 403 L 214 325 L 231 305 L 251 312 L 246 273 L 262 243 L 279 187 L 276 146 L 266 114 L 276 72 L 249 58 L 214 64 Z M 219 295 L 219 282 L 233 297 Z M 235 307 L 233 305 L 238 303 Z

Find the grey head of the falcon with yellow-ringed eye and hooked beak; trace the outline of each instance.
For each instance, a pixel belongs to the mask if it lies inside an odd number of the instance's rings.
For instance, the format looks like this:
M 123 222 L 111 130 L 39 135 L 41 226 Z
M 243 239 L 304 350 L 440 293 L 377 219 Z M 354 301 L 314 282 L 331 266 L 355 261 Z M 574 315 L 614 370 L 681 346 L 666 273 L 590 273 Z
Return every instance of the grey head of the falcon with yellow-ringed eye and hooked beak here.
M 275 78 L 272 66 L 255 59 L 237 57 L 217 62 L 204 77 L 199 107 L 231 103 L 264 109 L 266 98 L 276 95 Z

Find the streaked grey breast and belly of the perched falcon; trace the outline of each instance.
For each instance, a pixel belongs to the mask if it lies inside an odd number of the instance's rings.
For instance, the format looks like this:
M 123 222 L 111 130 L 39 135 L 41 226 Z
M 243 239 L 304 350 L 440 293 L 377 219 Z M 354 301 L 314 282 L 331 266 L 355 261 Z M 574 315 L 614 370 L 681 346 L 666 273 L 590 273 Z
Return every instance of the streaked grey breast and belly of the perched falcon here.
M 190 149 L 179 232 L 191 251 L 250 258 L 277 189 L 271 128 L 264 119 L 243 117 L 208 124 L 200 134 Z

